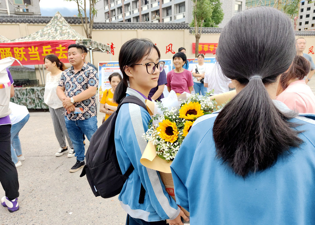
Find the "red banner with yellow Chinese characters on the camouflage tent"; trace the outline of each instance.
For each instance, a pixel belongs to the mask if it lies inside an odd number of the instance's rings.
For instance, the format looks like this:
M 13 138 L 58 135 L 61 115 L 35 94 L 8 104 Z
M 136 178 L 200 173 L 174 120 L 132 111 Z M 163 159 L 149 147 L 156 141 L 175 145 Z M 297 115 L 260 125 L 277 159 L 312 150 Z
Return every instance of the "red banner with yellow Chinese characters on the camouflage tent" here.
M 68 46 L 75 43 L 74 40 L 0 43 L 0 58 L 14 57 L 22 65 L 41 65 L 46 55 L 54 54 L 61 62 L 69 63 Z M 16 61 L 12 64 L 18 65 Z

